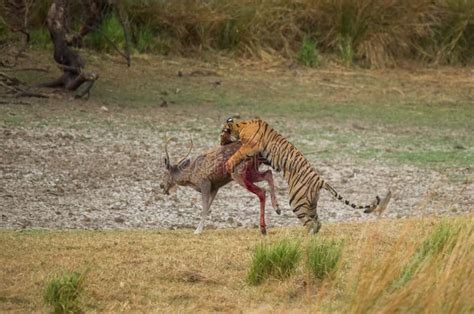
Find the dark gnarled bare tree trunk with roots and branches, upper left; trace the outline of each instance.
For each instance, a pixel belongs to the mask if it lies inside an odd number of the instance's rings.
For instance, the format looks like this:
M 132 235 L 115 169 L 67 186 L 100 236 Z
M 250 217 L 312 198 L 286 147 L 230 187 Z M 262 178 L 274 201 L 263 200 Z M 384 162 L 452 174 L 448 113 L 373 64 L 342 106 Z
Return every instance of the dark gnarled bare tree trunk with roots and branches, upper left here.
M 28 42 L 29 39 L 27 29 L 28 12 L 33 2 L 34 0 L 3 0 L 3 6 L 0 6 L 0 9 L 2 9 L 1 12 L 4 12 L 6 15 L 10 30 L 25 34 L 26 42 Z M 84 95 L 89 95 L 89 91 L 94 85 L 94 82 L 99 78 L 99 75 L 95 72 L 84 71 L 85 62 L 74 47 L 81 47 L 84 36 L 91 31 L 97 31 L 101 33 L 104 40 L 112 44 L 115 50 L 126 59 L 127 65 L 130 66 L 129 23 L 128 16 L 120 0 L 81 0 L 82 13 L 71 14 L 69 8 L 74 3 L 75 2 L 70 0 L 53 0 L 49 8 L 46 24 L 54 46 L 54 60 L 63 74 L 53 81 L 37 84 L 36 87 L 51 87 L 75 91 L 76 97 L 83 97 Z M 115 10 L 124 31 L 125 52 L 120 51 L 117 45 L 100 31 L 100 25 L 104 17 L 112 12 L 112 10 Z M 70 31 L 69 21 L 78 16 L 85 18 L 85 22 L 79 32 L 73 33 Z M 20 50 L 13 62 L 0 60 L 0 66 L 15 67 L 18 57 L 26 47 L 27 45 L 25 44 L 24 49 Z M 4 76 L 0 77 L 0 81 L 1 86 L 7 89 L 9 94 L 15 95 L 15 97 L 24 95 L 30 97 L 32 95 L 46 95 L 35 92 L 25 92 L 25 88 L 29 90 L 26 84 L 23 84 L 25 85 L 23 87 L 20 85 L 12 86 L 10 84 L 11 82 L 8 82 Z

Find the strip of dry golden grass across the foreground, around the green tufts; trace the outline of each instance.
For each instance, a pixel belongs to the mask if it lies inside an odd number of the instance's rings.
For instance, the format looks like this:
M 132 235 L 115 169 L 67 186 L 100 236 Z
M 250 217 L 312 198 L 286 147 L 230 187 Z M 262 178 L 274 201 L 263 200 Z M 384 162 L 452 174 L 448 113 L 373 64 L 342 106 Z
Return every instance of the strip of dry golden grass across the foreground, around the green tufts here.
M 255 230 L 2 231 L 0 311 L 45 310 L 42 291 L 51 274 L 88 270 L 86 311 L 320 311 L 469 312 L 473 278 L 473 218 L 460 226 L 451 251 L 441 250 L 399 288 L 393 281 L 435 228 L 433 219 L 326 225 L 318 237 L 344 240 L 334 277 L 314 280 L 301 263 L 285 280 L 258 287 L 245 277 Z M 266 241 L 297 239 L 303 228 L 274 229 Z

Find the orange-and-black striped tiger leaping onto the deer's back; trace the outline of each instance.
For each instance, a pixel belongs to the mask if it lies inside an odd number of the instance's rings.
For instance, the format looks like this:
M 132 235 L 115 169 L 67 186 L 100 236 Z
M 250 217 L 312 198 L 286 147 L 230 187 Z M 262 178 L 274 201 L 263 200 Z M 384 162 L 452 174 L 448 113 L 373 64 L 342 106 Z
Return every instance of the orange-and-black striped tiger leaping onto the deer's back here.
M 364 209 L 364 213 L 382 212 L 390 200 L 390 190 L 384 199 L 376 196 L 369 205 L 356 205 L 346 200 L 318 174 L 293 144 L 263 120 L 236 122 L 228 118 L 223 129 L 230 130 L 231 136 L 242 143 L 240 149 L 227 160 L 226 170 L 232 171 L 246 158 L 261 154 L 273 169 L 283 171 L 289 188 L 290 207 L 310 234 L 316 234 L 321 228 L 316 207 L 323 188 L 342 203 L 354 209 Z

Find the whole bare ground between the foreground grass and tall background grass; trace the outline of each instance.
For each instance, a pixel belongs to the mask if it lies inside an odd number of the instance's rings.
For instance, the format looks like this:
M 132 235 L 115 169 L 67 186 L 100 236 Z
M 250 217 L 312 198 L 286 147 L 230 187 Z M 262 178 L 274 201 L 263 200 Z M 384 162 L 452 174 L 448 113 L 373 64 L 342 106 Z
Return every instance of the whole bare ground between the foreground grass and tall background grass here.
M 48 62 L 45 56 L 39 58 Z M 468 134 L 472 126 L 456 129 L 448 125 L 437 129 L 434 120 L 423 126 L 407 120 L 403 130 L 399 127 L 403 121 L 377 123 L 376 128 L 367 130 L 356 118 L 341 116 L 339 107 L 326 108 L 326 116 L 321 120 L 308 120 L 301 118 L 304 112 L 298 110 L 280 108 L 275 112 L 264 101 L 258 108 L 245 102 L 246 97 L 267 97 L 268 103 L 272 103 L 272 97 L 291 90 L 303 98 L 329 104 L 351 99 L 368 102 L 369 106 L 379 100 L 391 105 L 404 99 L 400 110 L 414 100 L 434 102 L 443 110 L 451 110 L 459 102 L 464 104 L 459 110 L 465 110 L 464 115 L 469 118 L 469 104 L 474 103 L 474 72 L 470 69 L 294 70 L 284 64 L 261 66 L 225 60 L 193 63 L 151 57 L 136 62 L 131 69 L 123 69 L 114 64 L 113 58 L 93 59 L 92 66 L 100 69 L 101 80 L 88 101 L 57 95 L 48 100 L 28 99 L 28 105 L 21 105 L 17 99 L 3 99 L 1 228 L 194 228 L 199 222 L 200 194 L 186 187 L 180 187 L 171 196 L 160 191 L 164 139 L 182 139 L 170 148 L 176 160 L 184 154 L 192 136 L 196 156 L 217 145 L 219 127 L 229 113 L 242 117 L 258 115 L 269 120 L 301 148 L 325 179 L 352 201 L 368 203 L 375 195 L 392 190 L 394 196 L 383 217 L 472 212 L 474 169 L 470 162 L 474 150 L 473 133 Z M 22 75 L 27 81 L 43 78 Z M 54 77 L 54 73 L 47 75 Z M 150 82 L 150 77 L 156 80 Z M 371 82 L 376 81 L 380 83 L 372 86 Z M 220 92 L 222 88 L 227 89 L 225 93 Z M 215 92 L 217 89 L 220 90 Z M 294 99 L 291 94 L 286 97 L 281 97 L 283 104 Z M 231 102 L 239 105 L 223 105 Z M 308 130 L 329 135 L 324 139 L 312 138 Z M 385 155 L 361 157 L 358 153 L 362 150 L 369 154 L 367 146 L 372 145 L 381 154 L 390 154 L 394 141 L 398 149 L 403 149 L 399 141 L 402 136 L 423 138 L 426 131 L 429 136 L 444 132 L 446 136 L 464 139 L 458 148 L 452 148 L 456 143 L 449 145 L 454 153 L 456 149 L 462 150 L 463 156 L 467 156 L 463 157 L 465 162 L 448 161 L 446 165 L 441 162 L 432 166 L 423 162 L 391 162 Z M 339 148 L 343 153 L 337 153 Z M 281 174 L 274 175 L 283 212 L 276 215 L 268 201 L 267 223 L 270 228 L 297 225 L 299 222 L 288 206 L 286 183 Z M 322 192 L 318 208 L 323 224 L 377 219 L 338 203 L 326 192 Z M 211 209 L 207 228 L 257 227 L 257 198 L 234 183 L 219 191 Z

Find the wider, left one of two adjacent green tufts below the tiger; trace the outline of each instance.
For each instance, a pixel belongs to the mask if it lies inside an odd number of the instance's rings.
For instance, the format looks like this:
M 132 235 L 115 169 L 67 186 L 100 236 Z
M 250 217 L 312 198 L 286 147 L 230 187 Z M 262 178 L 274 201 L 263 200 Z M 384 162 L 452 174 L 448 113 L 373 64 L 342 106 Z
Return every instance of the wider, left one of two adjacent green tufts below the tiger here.
M 247 281 L 258 285 L 271 276 L 285 279 L 294 272 L 300 257 L 300 246 L 294 241 L 260 244 L 255 249 Z

